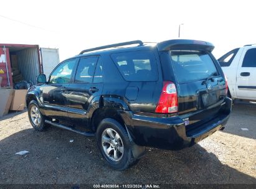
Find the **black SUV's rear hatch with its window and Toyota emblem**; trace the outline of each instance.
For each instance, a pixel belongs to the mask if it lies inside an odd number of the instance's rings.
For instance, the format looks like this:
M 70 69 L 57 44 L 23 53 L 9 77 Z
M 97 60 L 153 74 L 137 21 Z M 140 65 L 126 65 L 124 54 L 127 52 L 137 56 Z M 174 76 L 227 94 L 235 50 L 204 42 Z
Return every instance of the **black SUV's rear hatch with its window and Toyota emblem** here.
M 178 114 L 186 132 L 218 116 L 225 99 L 225 78 L 211 52 L 189 49 L 169 50 L 176 76 Z

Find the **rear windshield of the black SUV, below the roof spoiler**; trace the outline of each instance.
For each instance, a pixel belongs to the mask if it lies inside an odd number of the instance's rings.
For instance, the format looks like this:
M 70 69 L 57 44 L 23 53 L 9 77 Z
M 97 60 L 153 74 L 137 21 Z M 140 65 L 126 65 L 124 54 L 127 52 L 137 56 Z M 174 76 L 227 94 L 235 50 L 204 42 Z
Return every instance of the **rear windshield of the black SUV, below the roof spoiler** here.
M 203 80 L 219 75 L 207 52 L 198 50 L 171 50 L 174 71 L 179 83 Z

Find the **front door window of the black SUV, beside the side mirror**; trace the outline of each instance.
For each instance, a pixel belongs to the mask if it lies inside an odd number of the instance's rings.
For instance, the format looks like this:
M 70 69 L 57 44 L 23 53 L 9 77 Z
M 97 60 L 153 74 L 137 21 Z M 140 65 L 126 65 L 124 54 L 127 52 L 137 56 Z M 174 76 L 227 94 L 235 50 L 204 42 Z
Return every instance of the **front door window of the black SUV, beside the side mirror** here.
M 59 67 L 57 67 L 52 75 L 50 75 L 50 84 L 64 84 L 69 83 L 72 70 L 75 66 L 75 59 L 68 60 L 64 63 L 61 63 Z

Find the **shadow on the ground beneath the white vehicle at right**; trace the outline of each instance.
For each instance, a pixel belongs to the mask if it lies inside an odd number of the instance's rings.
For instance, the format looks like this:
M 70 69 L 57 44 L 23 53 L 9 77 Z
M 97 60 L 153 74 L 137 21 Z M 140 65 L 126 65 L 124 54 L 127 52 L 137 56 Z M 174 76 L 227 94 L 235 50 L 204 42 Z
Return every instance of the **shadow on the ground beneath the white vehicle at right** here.
M 229 121 L 223 132 L 256 139 L 255 112 L 256 104 L 246 101 L 235 101 Z

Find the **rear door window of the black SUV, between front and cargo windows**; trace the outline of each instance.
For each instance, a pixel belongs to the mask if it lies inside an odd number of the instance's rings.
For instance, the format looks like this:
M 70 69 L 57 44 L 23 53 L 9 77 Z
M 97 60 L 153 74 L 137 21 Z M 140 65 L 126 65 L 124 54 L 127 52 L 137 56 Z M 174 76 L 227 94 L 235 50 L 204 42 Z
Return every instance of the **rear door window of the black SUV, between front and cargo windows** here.
M 75 83 L 92 83 L 98 57 L 81 58 L 75 74 Z

